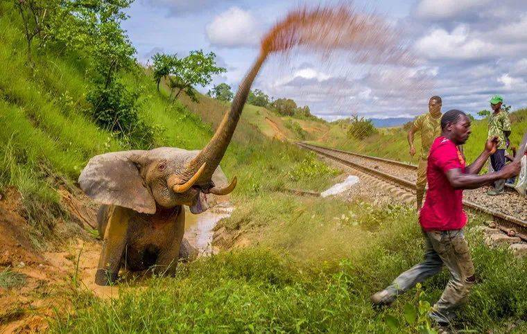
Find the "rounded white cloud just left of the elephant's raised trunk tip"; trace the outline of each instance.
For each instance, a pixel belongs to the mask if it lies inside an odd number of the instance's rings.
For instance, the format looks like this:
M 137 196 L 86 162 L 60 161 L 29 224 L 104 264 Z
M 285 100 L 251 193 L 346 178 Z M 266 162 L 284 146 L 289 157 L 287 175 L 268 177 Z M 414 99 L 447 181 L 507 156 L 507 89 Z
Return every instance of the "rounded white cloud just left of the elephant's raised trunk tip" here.
M 227 48 L 254 46 L 260 41 L 261 28 L 251 12 L 231 7 L 214 17 L 205 31 L 211 44 Z

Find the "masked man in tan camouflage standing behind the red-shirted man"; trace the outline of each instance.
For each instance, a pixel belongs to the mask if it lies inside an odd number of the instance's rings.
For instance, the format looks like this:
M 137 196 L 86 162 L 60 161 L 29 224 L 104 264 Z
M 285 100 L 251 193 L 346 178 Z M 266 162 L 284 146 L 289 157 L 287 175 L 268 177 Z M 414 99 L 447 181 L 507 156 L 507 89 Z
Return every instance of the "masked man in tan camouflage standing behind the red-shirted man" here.
M 410 155 L 415 155 L 413 146 L 413 136 L 415 132 L 421 132 L 421 152 L 419 156 L 419 166 L 417 168 L 417 210 L 421 209 L 426 187 L 426 161 L 428 159 L 430 147 L 435 138 L 441 134 L 441 105 L 442 100 L 439 96 L 432 96 L 429 100 L 429 112 L 422 114 L 413 123 L 408 131 L 408 144 L 410 144 Z

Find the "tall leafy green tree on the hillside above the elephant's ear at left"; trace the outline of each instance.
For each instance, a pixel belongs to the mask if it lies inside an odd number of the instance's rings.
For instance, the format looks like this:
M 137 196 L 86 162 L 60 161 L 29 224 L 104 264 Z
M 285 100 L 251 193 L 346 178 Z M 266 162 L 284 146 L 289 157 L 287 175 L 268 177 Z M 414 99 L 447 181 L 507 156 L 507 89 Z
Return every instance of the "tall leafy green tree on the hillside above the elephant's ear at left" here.
M 139 94 L 121 80 L 139 69 L 135 49 L 121 24 L 131 0 L 60 0 L 49 22 L 51 44 L 85 60 L 92 82 L 89 115 L 101 128 L 117 132 L 134 146 L 153 143 L 153 129 L 139 118 Z

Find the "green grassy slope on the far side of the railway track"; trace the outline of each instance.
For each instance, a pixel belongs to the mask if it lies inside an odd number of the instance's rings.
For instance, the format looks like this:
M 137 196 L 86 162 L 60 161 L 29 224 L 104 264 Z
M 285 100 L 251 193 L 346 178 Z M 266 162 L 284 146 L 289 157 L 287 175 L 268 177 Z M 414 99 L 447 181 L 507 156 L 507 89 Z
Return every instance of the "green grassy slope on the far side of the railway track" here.
M 527 109 L 518 109 L 510 114 L 512 122 L 512 134 L 510 143 L 512 146 L 519 146 L 521 137 L 527 130 Z M 363 152 L 366 155 L 385 157 L 400 161 L 409 161 L 417 164 L 419 160 L 420 135 L 415 136 L 416 155 L 411 157 L 406 139 L 407 131 L 403 128 L 381 128 L 379 133 L 374 134 L 367 139 L 359 141 L 347 137 L 347 128 L 340 124 L 340 127 L 332 127 L 327 135 L 319 139 L 319 144 L 340 148 L 342 150 L 351 150 Z M 467 161 L 474 160 L 483 150 L 483 145 L 487 139 L 487 120 L 472 122 L 472 134 L 464 146 Z M 380 144 L 380 145 L 379 145 Z

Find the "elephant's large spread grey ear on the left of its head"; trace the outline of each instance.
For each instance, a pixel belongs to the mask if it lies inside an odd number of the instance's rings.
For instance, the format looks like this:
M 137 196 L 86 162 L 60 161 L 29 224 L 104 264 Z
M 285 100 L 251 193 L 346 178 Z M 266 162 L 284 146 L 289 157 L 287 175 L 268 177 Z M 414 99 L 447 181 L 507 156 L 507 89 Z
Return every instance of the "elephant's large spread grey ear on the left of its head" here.
M 155 213 L 154 197 L 144 186 L 137 162 L 144 152 L 132 150 L 93 157 L 80 173 L 80 188 L 100 204 Z

